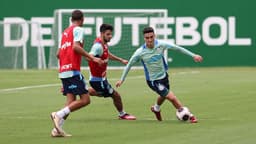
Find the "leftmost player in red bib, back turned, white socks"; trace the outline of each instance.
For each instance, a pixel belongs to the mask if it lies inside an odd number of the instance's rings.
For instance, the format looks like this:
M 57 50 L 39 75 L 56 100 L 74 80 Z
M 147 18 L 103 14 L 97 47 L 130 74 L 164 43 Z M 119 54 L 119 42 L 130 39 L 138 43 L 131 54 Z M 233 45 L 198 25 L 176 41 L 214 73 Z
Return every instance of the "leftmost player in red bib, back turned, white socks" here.
M 69 113 L 74 112 L 90 103 L 88 90 L 85 88 L 84 77 L 80 72 L 81 58 L 84 56 L 89 61 L 99 64 L 104 62 L 91 56 L 83 49 L 83 25 L 84 16 L 80 10 L 72 12 L 72 25 L 66 28 L 62 34 L 61 46 L 58 49 L 59 78 L 63 85 L 63 95 L 66 96 L 66 105 L 57 112 L 51 113 L 54 123 L 53 137 L 71 136 L 62 129 L 64 119 Z M 76 100 L 76 95 L 80 99 Z

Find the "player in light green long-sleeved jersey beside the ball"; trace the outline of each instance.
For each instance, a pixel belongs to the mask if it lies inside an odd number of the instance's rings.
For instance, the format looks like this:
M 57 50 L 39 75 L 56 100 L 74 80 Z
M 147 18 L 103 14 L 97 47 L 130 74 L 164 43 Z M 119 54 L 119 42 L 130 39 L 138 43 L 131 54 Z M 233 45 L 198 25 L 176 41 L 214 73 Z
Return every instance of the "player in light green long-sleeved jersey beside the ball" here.
M 163 52 L 166 49 L 177 50 L 183 54 L 193 57 L 195 62 L 201 62 L 203 58 L 200 55 L 194 54 L 185 48 L 172 43 L 167 43 L 155 39 L 154 29 L 146 27 L 143 30 L 145 44 L 138 48 L 126 65 L 123 71 L 121 80 L 117 81 L 116 87 L 120 87 L 125 80 L 131 66 L 141 61 L 144 66 L 144 72 L 148 86 L 155 91 L 159 97 L 156 104 L 151 107 L 151 111 L 155 114 L 156 119 L 162 121 L 160 106 L 165 99 L 170 101 L 177 110 L 182 110 L 183 105 L 169 89 L 169 79 L 167 73 L 167 64 L 165 63 Z M 190 115 L 190 122 L 196 123 L 197 119 L 193 114 Z

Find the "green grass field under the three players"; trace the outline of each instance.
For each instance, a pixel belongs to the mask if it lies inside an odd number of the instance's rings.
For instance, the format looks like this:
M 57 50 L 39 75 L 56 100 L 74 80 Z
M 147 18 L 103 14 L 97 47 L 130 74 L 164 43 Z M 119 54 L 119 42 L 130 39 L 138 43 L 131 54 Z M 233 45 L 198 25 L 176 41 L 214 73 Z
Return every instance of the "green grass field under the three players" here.
M 88 79 L 87 71 L 83 71 Z M 121 121 L 111 99 L 91 98 L 72 113 L 64 129 L 71 138 L 52 138 L 50 113 L 61 108 L 56 70 L 0 71 L 1 144 L 255 144 L 256 67 L 170 69 L 171 88 L 198 117 L 179 122 L 171 104 L 162 106 L 164 121 L 150 111 L 156 94 L 144 74 L 130 71 L 121 93 L 125 110 L 136 121 Z M 114 86 L 121 71 L 111 71 Z

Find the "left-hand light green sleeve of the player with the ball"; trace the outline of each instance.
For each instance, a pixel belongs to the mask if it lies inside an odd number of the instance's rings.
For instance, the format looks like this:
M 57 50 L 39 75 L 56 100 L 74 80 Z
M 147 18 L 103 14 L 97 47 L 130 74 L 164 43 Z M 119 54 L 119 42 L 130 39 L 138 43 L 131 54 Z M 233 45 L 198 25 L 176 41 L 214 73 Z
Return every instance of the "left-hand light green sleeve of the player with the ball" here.
M 131 67 L 132 67 L 136 62 L 138 62 L 138 61 L 141 59 L 141 58 L 140 58 L 141 50 L 142 50 L 141 48 L 140 48 L 140 49 L 137 49 L 137 50 L 133 53 L 132 57 L 130 58 L 128 64 L 126 65 L 126 67 L 125 67 L 125 69 L 124 69 L 124 71 L 123 71 L 123 74 L 122 74 L 122 76 L 121 76 L 121 81 L 124 81 L 124 80 L 125 80 L 125 78 L 126 78 L 128 72 L 130 71 Z

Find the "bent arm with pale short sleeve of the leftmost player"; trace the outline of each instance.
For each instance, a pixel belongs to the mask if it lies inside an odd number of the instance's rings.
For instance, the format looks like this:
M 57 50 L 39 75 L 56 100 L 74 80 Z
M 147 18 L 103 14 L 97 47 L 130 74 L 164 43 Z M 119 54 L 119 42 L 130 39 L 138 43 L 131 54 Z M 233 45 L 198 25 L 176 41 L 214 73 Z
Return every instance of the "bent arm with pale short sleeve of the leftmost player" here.
M 83 29 L 82 28 L 80 28 L 80 27 L 74 28 L 73 35 L 74 35 L 73 50 L 77 54 L 80 54 L 80 55 L 84 56 L 87 60 L 94 61 L 100 65 L 104 63 L 101 59 L 93 57 L 87 51 L 85 51 L 83 49 L 83 47 L 81 47 L 81 44 L 83 42 Z

